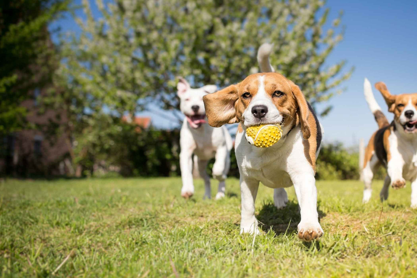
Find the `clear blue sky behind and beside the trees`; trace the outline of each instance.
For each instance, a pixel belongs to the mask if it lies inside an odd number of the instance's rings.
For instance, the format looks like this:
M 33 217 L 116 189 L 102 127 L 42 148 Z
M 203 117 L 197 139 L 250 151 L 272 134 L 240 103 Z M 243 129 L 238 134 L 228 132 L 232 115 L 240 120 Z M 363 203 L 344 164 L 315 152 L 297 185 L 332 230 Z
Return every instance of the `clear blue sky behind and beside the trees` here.
M 75 4 L 80 2 L 76 0 Z M 93 3 L 92 6 L 96 10 Z M 344 40 L 329 56 L 327 65 L 347 60 L 345 71 L 352 66 L 355 71 L 342 84 L 341 87 L 346 88 L 342 94 L 317 106 L 319 111 L 329 104 L 333 106 L 332 112 L 319 120 L 324 126 L 325 142 L 339 141 L 352 146 L 360 138 L 367 142 L 377 128 L 363 97 L 364 77 L 372 84 L 384 81 L 392 94 L 417 92 L 417 1 L 328 0 L 326 7 L 330 8 L 329 20 L 343 10 L 342 25 L 346 26 Z M 58 25 L 64 31 L 80 30 L 70 17 L 58 20 L 51 28 Z M 376 89 L 374 94 L 391 120 L 393 117 Z M 153 116 L 156 126 L 174 126 L 153 113 L 143 112 L 141 115 Z

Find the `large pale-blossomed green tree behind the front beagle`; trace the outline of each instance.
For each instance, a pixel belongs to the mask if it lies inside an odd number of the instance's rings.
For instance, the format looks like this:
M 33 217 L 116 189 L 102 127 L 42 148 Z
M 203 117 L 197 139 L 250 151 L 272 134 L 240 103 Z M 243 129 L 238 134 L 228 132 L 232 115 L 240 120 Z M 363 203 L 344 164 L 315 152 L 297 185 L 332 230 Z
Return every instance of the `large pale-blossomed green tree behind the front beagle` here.
M 176 76 L 194 86 L 223 87 L 257 72 L 256 51 L 264 42 L 274 43 L 273 66 L 313 105 L 329 99 L 352 71 L 342 73 L 345 61 L 324 66 L 343 37 L 340 16 L 324 28 L 329 14 L 324 1 L 97 0 L 96 5 L 102 17 L 95 18 L 84 0 L 85 20 L 76 19 L 81 34 L 64 38 L 65 60 L 55 81 L 68 86 L 49 100 L 65 106 L 74 142 L 86 147 L 98 137 L 85 131 L 103 117 L 134 114 L 150 102 L 177 109 Z M 76 149 L 83 148 L 74 148 L 78 156 Z

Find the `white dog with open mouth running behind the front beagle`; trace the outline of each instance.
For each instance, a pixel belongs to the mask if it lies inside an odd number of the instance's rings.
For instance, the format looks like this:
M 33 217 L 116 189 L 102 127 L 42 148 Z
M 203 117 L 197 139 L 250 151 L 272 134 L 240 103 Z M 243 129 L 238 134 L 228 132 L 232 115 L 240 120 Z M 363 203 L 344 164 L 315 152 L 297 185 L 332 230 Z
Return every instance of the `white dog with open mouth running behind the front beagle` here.
M 225 179 L 230 167 L 230 151 L 233 141 L 226 127 L 214 128 L 207 124 L 203 96 L 216 91 L 216 85 L 206 85 L 198 89 L 190 87 L 184 78 L 180 78 L 177 89 L 180 97 L 180 109 L 185 119 L 180 132 L 180 167 L 183 186 L 181 196 L 189 198 L 194 194 L 193 159 L 200 176 L 204 179 L 204 197 L 211 198 L 210 177 L 206 172 L 208 160 L 215 158 L 213 177 L 219 180 L 216 199 L 224 197 Z

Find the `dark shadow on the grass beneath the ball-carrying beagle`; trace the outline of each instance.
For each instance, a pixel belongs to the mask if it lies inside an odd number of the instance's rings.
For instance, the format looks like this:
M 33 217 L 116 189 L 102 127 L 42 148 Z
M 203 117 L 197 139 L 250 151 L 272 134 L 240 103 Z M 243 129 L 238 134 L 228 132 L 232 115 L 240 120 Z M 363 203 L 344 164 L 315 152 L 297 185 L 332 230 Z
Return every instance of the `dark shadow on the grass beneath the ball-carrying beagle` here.
M 319 222 L 326 214 L 319 209 L 320 202 L 317 203 L 317 212 L 319 213 Z M 261 211 L 256 216 L 259 226 L 266 231 L 270 228 L 275 235 L 291 234 L 297 230 L 297 225 L 301 220 L 298 203 L 291 200 L 286 207 L 277 209 L 274 202 L 264 202 Z

